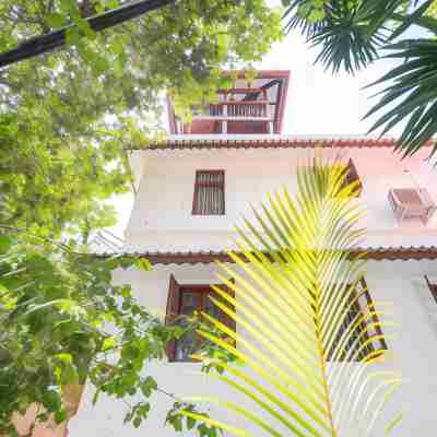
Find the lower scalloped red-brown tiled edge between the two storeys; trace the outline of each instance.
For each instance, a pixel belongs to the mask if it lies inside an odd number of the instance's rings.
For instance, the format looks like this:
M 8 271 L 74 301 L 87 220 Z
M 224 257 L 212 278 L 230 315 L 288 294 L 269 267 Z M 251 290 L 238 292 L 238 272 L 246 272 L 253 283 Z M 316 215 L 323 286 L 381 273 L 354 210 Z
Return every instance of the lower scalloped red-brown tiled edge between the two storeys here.
M 114 253 L 116 255 L 116 253 Z M 132 257 L 146 258 L 152 264 L 209 264 L 215 261 L 233 262 L 226 251 L 187 251 L 187 252 L 131 252 L 122 253 Z M 102 253 L 99 257 L 109 257 Z M 373 261 L 408 261 L 408 260 L 436 260 L 437 247 L 400 247 L 400 248 L 369 248 L 354 249 L 351 256 L 362 256 Z

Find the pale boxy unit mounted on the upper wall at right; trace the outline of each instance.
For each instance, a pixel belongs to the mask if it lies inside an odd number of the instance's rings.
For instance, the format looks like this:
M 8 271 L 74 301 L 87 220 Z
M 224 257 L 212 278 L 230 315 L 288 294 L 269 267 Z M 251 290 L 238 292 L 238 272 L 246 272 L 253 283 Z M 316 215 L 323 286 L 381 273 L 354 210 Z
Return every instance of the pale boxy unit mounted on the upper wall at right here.
M 392 188 L 389 202 L 399 223 L 418 218 L 426 225 L 437 209 L 426 188 Z

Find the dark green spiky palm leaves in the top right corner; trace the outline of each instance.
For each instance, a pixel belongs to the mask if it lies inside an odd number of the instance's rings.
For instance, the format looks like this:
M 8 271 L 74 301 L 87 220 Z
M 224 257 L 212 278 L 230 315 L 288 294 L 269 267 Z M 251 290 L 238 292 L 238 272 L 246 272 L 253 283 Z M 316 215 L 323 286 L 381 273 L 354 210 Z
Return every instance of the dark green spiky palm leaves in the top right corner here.
M 397 150 L 414 154 L 437 133 L 434 122 L 437 87 L 435 37 L 436 2 L 427 0 L 294 0 L 284 14 L 288 29 L 298 28 L 312 46 L 320 47 L 316 62 L 338 72 L 354 73 L 381 54 L 403 64 L 375 84 L 383 84 L 382 97 L 366 117 L 381 113 L 370 131 L 381 134 L 404 123 Z M 411 27 L 421 26 L 429 38 L 401 39 Z M 393 44 L 393 40 L 395 42 Z M 388 105 L 395 104 L 388 109 Z M 436 152 L 434 144 L 433 152 Z

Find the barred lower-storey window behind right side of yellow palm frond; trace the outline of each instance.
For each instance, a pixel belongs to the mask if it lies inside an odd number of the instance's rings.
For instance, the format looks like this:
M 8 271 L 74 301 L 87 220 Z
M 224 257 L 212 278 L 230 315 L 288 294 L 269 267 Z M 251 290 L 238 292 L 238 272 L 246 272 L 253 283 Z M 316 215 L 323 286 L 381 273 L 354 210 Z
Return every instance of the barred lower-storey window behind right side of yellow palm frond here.
M 357 299 L 354 299 L 358 296 Z M 342 341 L 343 334 L 347 332 L 354 323 L 357 322 L 357 315 L 365 315 L 368 311 L 375 311 L 375 306 L 371 300 L 370 294 L 367 288 L 366 281 L 364 277 L 357 283 L 353 294 L 351 295 L 353 304 L 349 307 L 349 311 L 346 317 L 343 319 L 342 324 L 339 327 L 339 331 L 335 334 L 333 344 L 331 350 L 328 353 L 328 361 L 333 359 L 333 352 L 335 346 Z M 350 335 L 346 344 L 344 345 L 344 352 L 341 357 L 336 357 L 338 361 L 344 361 L 345 354 L 354 347 L 355 351 L 358 351 L 369 339 L 377 336 L 375 341 L 367 342 L 367 344 L 361 349 L 359 353 L 355 356 L 355 361 L 364 359 L 369 353 L 375 351 L 383 351 L 387 350 L 386 341 L 383 340 L 382 331 L 379 324 L 370 326 L 371 323 L 378 323 L 378 316 L 373 315 L 371 317 L 365 319 L 359 327 L 356 327 L 355 331 L 352 335 Z M 366 333 L 359 336 L 359 332 L 363 330 L 365 326 L 368 326 Z M 356 342 L 356 340 L 359 340 Z M 352 356 L 352 355 L 350 355 Z

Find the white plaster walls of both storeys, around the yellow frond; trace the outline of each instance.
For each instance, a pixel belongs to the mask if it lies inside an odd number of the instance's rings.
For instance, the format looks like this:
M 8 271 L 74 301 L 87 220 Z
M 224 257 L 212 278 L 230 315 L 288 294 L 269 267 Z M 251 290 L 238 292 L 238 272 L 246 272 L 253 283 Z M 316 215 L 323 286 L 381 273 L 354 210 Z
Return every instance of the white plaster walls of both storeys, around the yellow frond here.
M 364 225 L 370 246 L 421 246 L 437 244 L 437 217 L 427 227 L 418 224 L 400 226 L 394 222 L 387 201 L 389 188 L 414 187 L 403 170 L 409 169 L 416 182 L 437 199 L 437 175 L 426 152 L 400 161 L 390 149 L 351 149 L 364 184 L 359 202 L 367 211 Z M 259 205 L 269 191 L 286 186 L 296 190 L 296 165 L 311 153 L 308 150 L 184 150 L 137 152 L 132 160 L 141 168 L 139 192 L 126 232 L 127 248 L 132 250 L 222 250 L 228 246 L 233 226 L 241 215 L 251 215 L 250 204 Z M 329 153 L 332 153 L 331 151 Z M 226 214 L 192 216 L 192 196 L 197 169 L 225 169 Z M 240 223 L 240 222 L 239 222 Z M 135 270 L 117 272 L 117 281 L 128 282 L 149 309 L 164 317 L 170 273 L 184 283 L 211 283 L 213 265 L 156 267 L 153 272 Z M 371 261 L 366 281 L 375 300 L 391 300 L 398 321 L 397 333 L 386 332 L 390 352 L 397 357 L 405 382 L 397 408 L 405 418 L 393 434 L 434 436 L 437 426 L 437 304 L 433 300 L 423 275 L 437 279 L 437 262 Z M 226 399 L 235 395 L 218 382 L 199 375 L 199 365 L 152 363 L 147 368 L 160 386 L 179 395 L 213 394 Z M 163 427 L 170 402 L 162 394 L 153 400 L 154 410 L 140 429 L 122 424 L 126 406 L 120 401 L 103 399 L 91 405 L 92 393 L 85 391 L 78 415 L 70 423 L 70 436 L 157 436 L 169 437 L 172 428 Z M 389 411 L 390 412 L 390 411 Z M 223 417 L 222 413 L 212 414 Z M 241 424 L 233 417 L 231 423 Z M 251 430 L 251 428 L 248 428 Z M 187 436 L 191 436 L 188 433 Z M 253 433 L 253 436 L 261 436 Z M 379 435 L 379 434 L 375 434 Z M 352 433 L 346 437 L 356 437 Z

